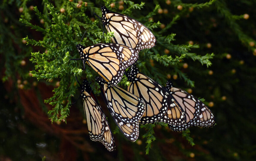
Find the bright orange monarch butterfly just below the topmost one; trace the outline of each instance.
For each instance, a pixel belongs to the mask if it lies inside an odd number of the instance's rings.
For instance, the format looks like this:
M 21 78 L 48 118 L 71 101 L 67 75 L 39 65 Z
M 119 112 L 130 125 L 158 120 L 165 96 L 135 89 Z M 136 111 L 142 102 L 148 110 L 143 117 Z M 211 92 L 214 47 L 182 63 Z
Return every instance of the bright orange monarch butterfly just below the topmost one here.
M 91 66 L 106 82 L 117 85 L 124 69 L 135 63 L 138 53 L 120 44 L 76 45 L 80 59 Z M 77 59 L 76 59 L 77 60 Z

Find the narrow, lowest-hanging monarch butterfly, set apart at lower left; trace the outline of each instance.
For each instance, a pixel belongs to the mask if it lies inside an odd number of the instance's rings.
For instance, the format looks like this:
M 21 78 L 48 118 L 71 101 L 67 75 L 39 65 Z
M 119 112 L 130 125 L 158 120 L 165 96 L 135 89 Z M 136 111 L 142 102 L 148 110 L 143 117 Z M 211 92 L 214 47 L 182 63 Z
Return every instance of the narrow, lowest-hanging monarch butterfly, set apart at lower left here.
M 102 142 L 109 151 L 115 150 L 114 138 L 106 117 L 86 79 L 82 84 L 82 99 L 91 140 Z

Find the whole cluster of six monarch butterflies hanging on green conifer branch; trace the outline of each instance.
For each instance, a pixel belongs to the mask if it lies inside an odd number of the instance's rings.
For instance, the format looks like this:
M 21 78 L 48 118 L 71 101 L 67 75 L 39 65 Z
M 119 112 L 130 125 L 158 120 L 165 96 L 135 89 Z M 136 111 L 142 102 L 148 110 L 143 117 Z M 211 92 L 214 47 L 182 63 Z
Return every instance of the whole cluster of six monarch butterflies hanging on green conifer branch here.
M 173 131 L 183 131 L 191 126 L 212 127 L 214 116 L 208 107 L 191 94 L 167 81 L 166 87 L 140 73 L 134 63 L 138 52 L 156 45 L 152 32 L 137 20 L 102 7 L 102 22 L 108 32 L 113 31 L 114 43 L 94 44 L 77 49 L 80 59 L 101 77 L 96 82 L 101 87 L 104 101 L 113 120 L 130 141 L 139 136 L 139 124 L 165 122 Z M 127 90 L 117 84 L 126 68 Z M 87 80 L 82 84 L 82 98 L 89 136 L 102 142 L 112 151 L 115 143 L 107 119 L 99 106 Z

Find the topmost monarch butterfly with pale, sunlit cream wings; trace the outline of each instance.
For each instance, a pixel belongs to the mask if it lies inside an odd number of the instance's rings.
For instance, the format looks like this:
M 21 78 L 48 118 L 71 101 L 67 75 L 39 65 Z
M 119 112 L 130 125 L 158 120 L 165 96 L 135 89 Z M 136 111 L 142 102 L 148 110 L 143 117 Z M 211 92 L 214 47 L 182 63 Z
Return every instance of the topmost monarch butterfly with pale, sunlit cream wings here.
M 101 11 L 103 26 L 108 32 L 114 31 L 113 42 L 131 47 L 136 52 L 156 45 L 157 40 L 152 32 L 137 20 L 111 12 L 105 6 L 101 7 Z

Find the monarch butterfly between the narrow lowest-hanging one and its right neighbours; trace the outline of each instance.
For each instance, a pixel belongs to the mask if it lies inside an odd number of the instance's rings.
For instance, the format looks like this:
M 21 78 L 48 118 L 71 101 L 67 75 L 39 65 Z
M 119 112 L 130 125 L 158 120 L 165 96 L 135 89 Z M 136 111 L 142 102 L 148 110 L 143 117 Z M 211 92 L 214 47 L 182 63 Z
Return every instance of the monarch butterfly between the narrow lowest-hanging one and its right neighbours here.
M 95 79 L 116 125 L 125 137 L 136 141 L 139 136 L 138 122 L 145 112 L 143 101 L 119 86 L 108 85 L 100 77 Z

